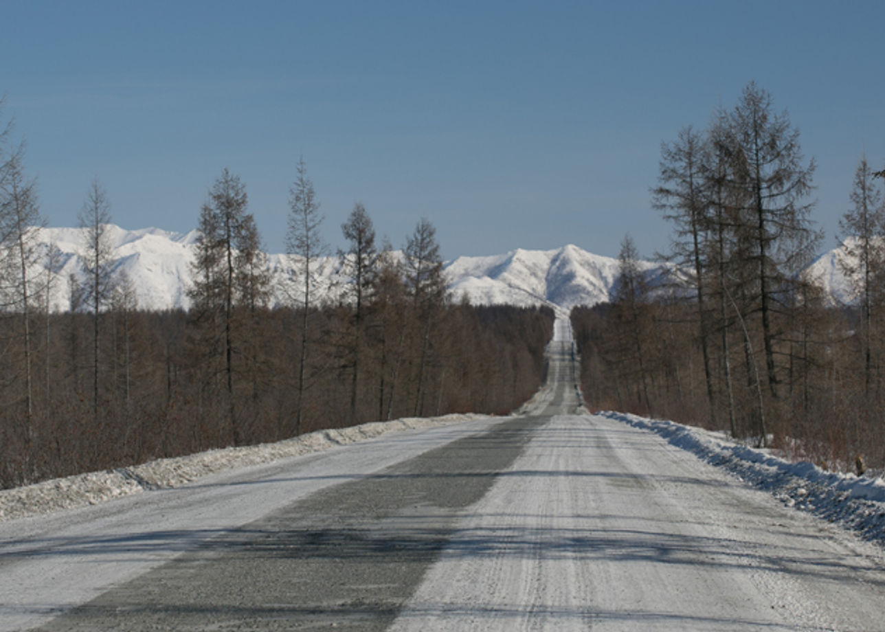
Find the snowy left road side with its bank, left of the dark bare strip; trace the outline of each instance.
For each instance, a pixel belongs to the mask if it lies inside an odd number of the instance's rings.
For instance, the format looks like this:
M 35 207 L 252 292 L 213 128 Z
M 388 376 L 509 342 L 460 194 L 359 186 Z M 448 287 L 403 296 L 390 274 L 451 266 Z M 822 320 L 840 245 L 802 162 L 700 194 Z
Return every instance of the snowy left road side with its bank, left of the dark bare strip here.
M 494 422 L 484 415 L 398 420 L 363 428 L 365 435 L 357 428 L 344 435 L 314 433 L 305 437 L 312 444 L 302 447 L 292 440 L 282 449 L 276 444 L 164 459 L 138 471 L 152 471 L 157 482 L 170 485 L 196 480 L 150 493 L 125 477 L 111 476 L 101 491 L 94 480 L 84 480 L 89 474 L 47 482 L 42 491 L 7 501 L 28 505 L 28 517 L 0 522 L 0 630 L 41 625 L 320 489 L 359 480 Z

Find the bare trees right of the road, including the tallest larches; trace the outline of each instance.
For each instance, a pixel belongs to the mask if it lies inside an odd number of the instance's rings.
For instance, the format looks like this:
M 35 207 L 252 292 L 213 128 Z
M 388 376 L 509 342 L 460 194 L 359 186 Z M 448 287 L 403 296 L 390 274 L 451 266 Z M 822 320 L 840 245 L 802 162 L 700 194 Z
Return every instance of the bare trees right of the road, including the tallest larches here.
M 885 210 L 862 158 L 839 266 L 856 300 L 832 304 L 808 266 L 814 161 L 750 83 L 661 150 L 655 208 L 673 226 L 669 283 L 629 236 L 611 304 L 572 314 L 591 406 L 773 440 L 820 464 L 885 462 L 881 372 Z

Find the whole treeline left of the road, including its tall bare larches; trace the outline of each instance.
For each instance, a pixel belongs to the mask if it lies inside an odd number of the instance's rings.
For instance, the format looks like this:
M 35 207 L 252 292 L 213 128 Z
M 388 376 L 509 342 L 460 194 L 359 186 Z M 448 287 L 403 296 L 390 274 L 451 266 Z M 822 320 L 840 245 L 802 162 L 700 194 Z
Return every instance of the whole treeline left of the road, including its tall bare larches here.
M 245 185 L 225 170 L 199 212 L 189 311 L 144 309 L 114 269 L 96 180 L 70 309 L 52 312 L 58 250 L 36 241 L 36 183 L 11 132 L 0 135 L 2 487 L 366 421 L 503 413 L 543 381 L 553 312 L 453 304 L 427 220 L 397 253 L 377 246 L 356 204 L 340 298 L 320 297 L 324 218 L 303 161 L 286 287 L 271 287 Z

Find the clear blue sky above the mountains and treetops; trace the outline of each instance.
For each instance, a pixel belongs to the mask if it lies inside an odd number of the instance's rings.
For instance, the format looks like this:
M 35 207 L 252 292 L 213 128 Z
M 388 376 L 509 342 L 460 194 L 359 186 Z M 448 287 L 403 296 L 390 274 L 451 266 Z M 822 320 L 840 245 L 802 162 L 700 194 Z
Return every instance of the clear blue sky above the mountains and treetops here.
M 304 156 L 327 220 L 355 201 L 446 258 L 574 243 L 643 255 L 660 143 L 750 80 L 815 157 L 835 244 L 858 158 L 885 166 L 881 2 L 0 0 L 0 93 L 42 212 L 73 226 L 94 175 L 127 228 L 196 226 L 224 167 L 271 251 Z

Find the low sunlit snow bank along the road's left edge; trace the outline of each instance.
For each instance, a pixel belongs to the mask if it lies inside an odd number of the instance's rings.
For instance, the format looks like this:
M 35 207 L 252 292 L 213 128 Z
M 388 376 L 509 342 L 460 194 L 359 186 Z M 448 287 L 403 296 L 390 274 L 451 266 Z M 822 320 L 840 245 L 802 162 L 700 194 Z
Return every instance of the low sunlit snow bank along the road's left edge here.
M 112 498 L 129 496 L 150 489 L 179 487 L 235 467 L 255 466 L 276 459 L 296 457 L 371 439 L 398 430 L 431 428 L 463 421 L 485 419 L 488 415 L 450 414 L 443 417 L 411 417 L 394 421 L 374 421 L 352 428 L 318 430 L 278 443 L 261 443 L 189 454 L 174 459 L 157 459 L 138 466 L 104 472 L 77 474 L 15 489 L 0 490 L 0 521 L 50 513 L 80 505 L 96 505 Z

